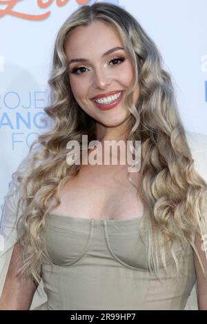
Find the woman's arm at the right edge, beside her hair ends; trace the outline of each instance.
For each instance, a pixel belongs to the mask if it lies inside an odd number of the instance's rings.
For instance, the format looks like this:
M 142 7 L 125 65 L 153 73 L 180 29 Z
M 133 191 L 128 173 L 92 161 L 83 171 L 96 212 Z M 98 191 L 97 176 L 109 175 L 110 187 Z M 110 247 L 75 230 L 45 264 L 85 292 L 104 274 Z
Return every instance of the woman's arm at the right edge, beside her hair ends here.
M 202 250 L 202 241 L 199 236 L 195 236 L 195 245 L 199 252 L 199 256 L 204 265 L 204 270 L 207 273 L 207 261 L 205 252 Z M 201 270 L 201 266 L 197 259 L 197 256 L 194 253 L 194 263 L 195 263 L 195 272 L 196 272 L 196 290 L 197 290 L 197 303 L 199 310 L 207 310 L 207 276 L 204 277 L 204 274 Z

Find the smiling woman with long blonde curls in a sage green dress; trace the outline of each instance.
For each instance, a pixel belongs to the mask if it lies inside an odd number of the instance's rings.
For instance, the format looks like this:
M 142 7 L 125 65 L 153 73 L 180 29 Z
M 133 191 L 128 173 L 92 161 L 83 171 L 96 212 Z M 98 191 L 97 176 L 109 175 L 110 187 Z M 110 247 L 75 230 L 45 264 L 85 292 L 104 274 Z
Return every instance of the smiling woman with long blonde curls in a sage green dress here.
M 155 43 L 122 8 L 82 6 L 59 30 L 49 84 L 54 128 L 3 210 L 0 308 L 182 310 L 196 282 L 207 309 L 207 139 L 185 132 Z M 68 163 L 70 141 L 90 161 L 83 135 L 104 155 L 106 141 L 141 141 L 139 172 Z

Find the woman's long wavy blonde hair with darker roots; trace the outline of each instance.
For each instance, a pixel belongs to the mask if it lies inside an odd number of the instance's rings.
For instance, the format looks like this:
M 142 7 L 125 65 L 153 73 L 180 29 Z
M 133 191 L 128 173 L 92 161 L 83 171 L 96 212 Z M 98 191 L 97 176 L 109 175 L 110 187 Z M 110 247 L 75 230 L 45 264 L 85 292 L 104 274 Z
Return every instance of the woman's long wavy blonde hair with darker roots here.
M 154 41 L 132 15 L 110 3 L 81 6 L 63 23 L 55 41 L 50 79 L 50 105 L 44 111 L 54 122 L 52 130 L 40 134 L 34 144 L 41 149 L 32 155 L 29 174 L 22 179 L 26 209 L 18 221 L 19 242 L 23 266 L 21 274 L 41 280 L 43 259 L 46 256 L 46 218 L 60 204 L 61 186 L 79 172 L 79 165 L 66 162 L 70 150 L 68 141 L 82 145 L 82 135 L 88 141 L 97 139 L 96 121 L 78 105 L 70 88 L 68 59 L 65 54 L 66 37 L 77 26 L 89 26 L 94 21 L 110 23 L 116 28 L 135 70 L 135 82 L 129 89 L 125 104 L 130 111 L 128 140 L 141 141 L 141 181 L 137 195 L 145 208 L 150 228 L 148 236 L 148 269 L 166 269 L 166 252 L 178 241 L 190 244 L 204 273 L 195 234 L 206 231 L 204 206 L 207 185 L 194 168 L 175 99 L 170 74 L 161 67 L 162 59 Z M 133 92 L 139 83 L 140 93 L 133 102 Z M 54 204 L 51 205 L 51 202 Z M 179 271 L 177 255 L 172 252 Z M 161 264 L 161 266 L 160 266 Z

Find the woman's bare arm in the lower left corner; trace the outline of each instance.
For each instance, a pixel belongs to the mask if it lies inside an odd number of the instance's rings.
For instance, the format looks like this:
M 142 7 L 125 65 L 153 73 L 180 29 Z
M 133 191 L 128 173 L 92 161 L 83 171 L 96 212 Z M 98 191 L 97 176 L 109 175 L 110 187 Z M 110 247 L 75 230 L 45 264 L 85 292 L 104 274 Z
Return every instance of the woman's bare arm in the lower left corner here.
M 21 264 L 19 256 L 19 242 L 14 245 L 10 265 L 0 298 L 0 310 L 30 310 L 34 292 L 37 289 L 32 279 L 22 279 L 17 276 Z

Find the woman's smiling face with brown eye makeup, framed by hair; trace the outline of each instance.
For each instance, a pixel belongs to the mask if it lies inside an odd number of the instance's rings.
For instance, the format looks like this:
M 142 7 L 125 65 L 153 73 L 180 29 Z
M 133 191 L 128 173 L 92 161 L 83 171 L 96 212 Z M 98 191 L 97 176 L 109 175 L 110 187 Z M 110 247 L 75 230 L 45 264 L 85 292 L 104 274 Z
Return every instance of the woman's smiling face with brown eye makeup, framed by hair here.
M 78 26 L 66 39 L 72 93 L 84 112 L 106 128 L 121 125 L 130 114 L 124 107 L 123 99 L 126 90 L 132 86 L 135 75 L 125 50 L 112 51 L 117 47 L 124 48 L 119 34 L 115 28 L 101 21 L 90 26 Z M 109 50 L 111 52 L 104 55 Z M 70 63 L 71 60 L 82 58 L 84 61 Z M 114 91 L 121 91 L 121 101 L 115 107 L 106 110 L 106 104 L 95 104 L 94 97 Z M 134 102 L 138 97 L 137 86 Z M 115 97 L 111 99 L 115 100 Z

